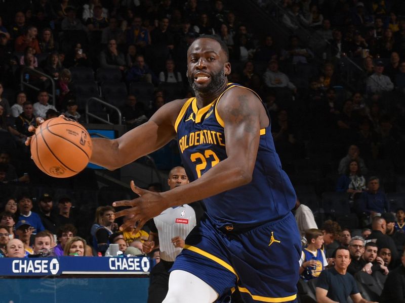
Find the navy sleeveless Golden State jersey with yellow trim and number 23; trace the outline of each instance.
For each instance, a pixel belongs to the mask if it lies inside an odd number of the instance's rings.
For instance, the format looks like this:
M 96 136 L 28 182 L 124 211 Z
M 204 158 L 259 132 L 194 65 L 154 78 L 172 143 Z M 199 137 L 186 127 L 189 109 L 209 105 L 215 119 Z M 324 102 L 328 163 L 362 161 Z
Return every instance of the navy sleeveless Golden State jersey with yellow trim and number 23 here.
M 246 88 L 228 83 L 225 91 L 233 87 Z M 190 181 L 227 158 L 224 122 L 217 111 L 225 91 L 201 109 L 195 98 L 188 99 L 177 117 L 175 129 L 181 159 Z M 295 191 L 281 169 L 270 127 L 260 130 L 252 182 L 204 199 L 207 213 L 214 220 L 254 226 L 282 218 L 293 209 Z

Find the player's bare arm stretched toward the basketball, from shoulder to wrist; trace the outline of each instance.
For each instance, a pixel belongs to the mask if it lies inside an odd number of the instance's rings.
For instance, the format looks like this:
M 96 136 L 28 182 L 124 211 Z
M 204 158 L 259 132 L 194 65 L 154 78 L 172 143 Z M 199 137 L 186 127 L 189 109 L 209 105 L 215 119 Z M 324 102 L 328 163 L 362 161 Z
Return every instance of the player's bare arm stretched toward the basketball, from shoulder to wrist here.
M 148 122 L 117 139 L 92 138 L 90 162 L 114 170 L 164 146 L 176 135 L 174 124 L 184 102 L 178 99 L 164 105 Z

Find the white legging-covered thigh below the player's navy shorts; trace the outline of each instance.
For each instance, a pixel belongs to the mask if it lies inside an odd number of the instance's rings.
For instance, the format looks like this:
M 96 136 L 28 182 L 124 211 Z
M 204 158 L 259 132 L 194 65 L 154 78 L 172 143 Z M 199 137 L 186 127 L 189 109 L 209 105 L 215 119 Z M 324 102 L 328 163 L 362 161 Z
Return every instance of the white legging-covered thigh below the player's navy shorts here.
M 217 297 L 214 288 L 197 276 L 174 270 L 170 273 L 169 291 L 163 303 L 212 303 Z

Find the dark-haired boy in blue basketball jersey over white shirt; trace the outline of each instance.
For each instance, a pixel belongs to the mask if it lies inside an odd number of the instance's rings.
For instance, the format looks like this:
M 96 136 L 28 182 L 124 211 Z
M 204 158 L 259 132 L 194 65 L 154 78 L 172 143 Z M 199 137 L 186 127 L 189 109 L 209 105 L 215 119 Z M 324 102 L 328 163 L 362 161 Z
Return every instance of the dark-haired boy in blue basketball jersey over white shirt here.
M 307 247 L 301 252 L 300 275 L 304 280 L 317 278 L 319 274 L 328 266 L 328 261 L 323 250 L 323 234 L 319 229 L 308 229 L 305 232 L 308 241 Z

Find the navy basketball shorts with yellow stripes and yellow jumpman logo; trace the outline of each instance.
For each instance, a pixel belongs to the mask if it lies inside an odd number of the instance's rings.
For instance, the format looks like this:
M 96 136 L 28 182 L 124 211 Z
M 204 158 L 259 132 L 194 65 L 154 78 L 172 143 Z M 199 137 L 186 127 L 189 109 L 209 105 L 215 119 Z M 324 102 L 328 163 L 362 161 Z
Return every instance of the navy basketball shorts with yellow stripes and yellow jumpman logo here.
M 245 302 L 295 302 L 301 239 L 294 216 L 250 230 L 224 227 L 205 216 L 171 271 L 197 276 L 219 296 L 237 287 Z

